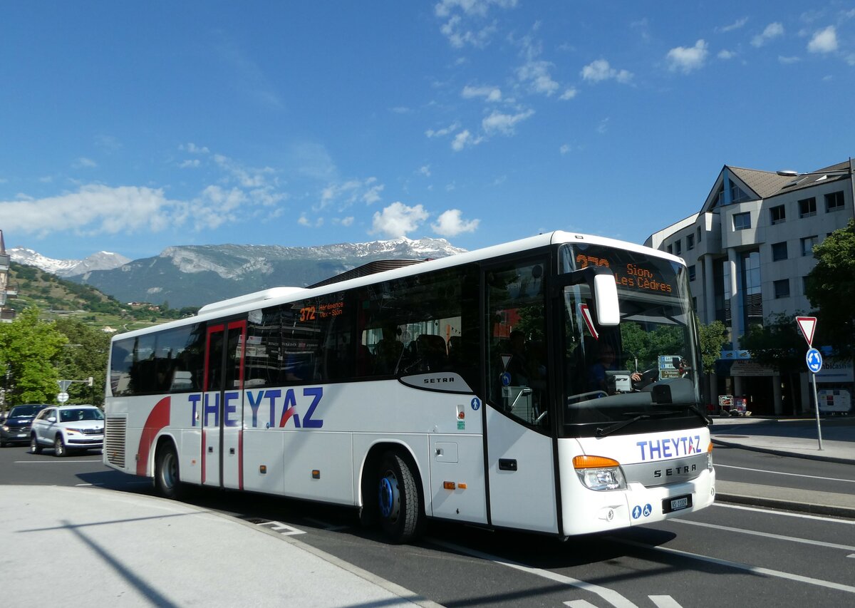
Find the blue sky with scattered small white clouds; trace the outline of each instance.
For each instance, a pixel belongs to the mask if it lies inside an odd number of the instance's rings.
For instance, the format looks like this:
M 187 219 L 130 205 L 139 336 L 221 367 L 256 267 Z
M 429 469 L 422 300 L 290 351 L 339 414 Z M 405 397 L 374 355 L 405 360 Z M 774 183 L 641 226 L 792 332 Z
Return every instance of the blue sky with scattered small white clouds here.
M 7 2 L 0 83 L 7 247 L 640 243 L 855 154 L 855 2 Z

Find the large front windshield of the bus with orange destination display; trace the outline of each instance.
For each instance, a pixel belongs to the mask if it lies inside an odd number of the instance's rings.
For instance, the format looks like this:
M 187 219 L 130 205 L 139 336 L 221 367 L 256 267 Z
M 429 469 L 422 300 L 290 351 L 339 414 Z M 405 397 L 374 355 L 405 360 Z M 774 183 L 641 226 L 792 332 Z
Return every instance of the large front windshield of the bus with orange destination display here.
M 621 322 L 598 326 L 590 288 L 564 288 L 564 434 L 697 425 L 705 415 L 699 410 L 699 351 L 686 267 L 598 245 L 561 250 L 561 272 L 591 265 L 615 274 Z

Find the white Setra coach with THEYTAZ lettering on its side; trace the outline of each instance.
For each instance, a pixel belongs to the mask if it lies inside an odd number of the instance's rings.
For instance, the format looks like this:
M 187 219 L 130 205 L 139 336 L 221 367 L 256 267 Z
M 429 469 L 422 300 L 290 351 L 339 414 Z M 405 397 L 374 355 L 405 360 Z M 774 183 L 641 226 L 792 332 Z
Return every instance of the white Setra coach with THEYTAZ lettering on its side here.
M 711 505 L 680 258 L 556 232 L 395 265 L 115 336 L 104 463 L 167 497 L 351 505 L 395 542 L 428 517 L 566 537 Z

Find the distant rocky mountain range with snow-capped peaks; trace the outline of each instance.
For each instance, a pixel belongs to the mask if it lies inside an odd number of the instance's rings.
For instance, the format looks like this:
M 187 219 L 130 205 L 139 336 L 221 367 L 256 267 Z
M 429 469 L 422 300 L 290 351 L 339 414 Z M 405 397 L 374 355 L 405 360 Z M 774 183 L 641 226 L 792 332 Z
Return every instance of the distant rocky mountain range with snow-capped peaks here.
M 445 239 L 398 238 L 315 247 L 179 245 L 128 260 L 102 251 L 85 260 L 53 260 L 32 250 L 7 250 L 15 262 L 96 287 L 121 302 L 202 306 L 275 286 L 309 286 L 364 263 L 431 259 L 462 251 Z

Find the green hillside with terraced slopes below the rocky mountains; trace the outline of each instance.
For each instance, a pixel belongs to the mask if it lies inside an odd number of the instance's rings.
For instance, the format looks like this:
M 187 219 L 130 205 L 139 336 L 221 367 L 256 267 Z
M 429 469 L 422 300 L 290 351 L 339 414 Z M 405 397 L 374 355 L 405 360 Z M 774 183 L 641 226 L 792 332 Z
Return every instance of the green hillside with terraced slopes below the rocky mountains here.
M 15 262 L 11 263 L 9 280 L 18 288 L 18 297 L 8 302 L 15 310 L 38 306 L 44 318 L 76 318 L 92 328 L 127 332 L 196 312 L 192 308 L 175 310 L 164 305 L 123 304 L 94 287 Z

